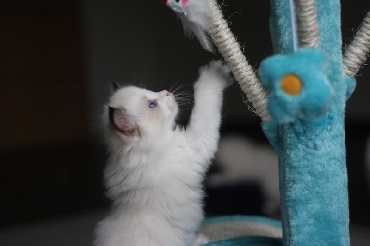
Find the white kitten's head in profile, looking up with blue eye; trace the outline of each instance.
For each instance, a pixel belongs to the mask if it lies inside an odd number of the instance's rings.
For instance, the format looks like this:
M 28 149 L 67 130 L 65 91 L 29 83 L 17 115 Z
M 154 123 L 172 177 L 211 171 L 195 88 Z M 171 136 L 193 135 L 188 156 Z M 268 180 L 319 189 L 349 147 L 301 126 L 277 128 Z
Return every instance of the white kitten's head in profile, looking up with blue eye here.
M 116 88 L 108 103 L 109 131 L 125 142 L 171 131 L 178 106 L 168 91 L 152 92 L 135 86 Z

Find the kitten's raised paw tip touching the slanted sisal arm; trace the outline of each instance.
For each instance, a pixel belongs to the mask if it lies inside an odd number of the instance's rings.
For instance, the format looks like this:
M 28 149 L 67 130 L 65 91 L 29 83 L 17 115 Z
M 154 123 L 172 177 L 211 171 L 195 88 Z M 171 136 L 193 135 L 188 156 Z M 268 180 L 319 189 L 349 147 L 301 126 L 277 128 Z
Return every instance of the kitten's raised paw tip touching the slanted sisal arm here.
M 220 84 L 222 88 L 226 88 L 233 84 L 233 79 L 230 76 L 230 69 L 223 64 L 221 60 L 211 61 L 208 65 L 199 69 L 200 78 L 210 85 Z

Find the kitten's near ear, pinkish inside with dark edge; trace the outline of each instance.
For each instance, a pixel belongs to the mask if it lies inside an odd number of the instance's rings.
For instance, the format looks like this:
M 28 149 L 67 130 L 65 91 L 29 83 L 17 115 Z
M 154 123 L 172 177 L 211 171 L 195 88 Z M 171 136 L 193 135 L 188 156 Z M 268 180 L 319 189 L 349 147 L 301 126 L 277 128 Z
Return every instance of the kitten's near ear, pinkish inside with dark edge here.
M 125 114 L 123 109 L 109 108 L 109 121 L 111 125 L 119 132 L 132 136 L 137 132 L 135 121 L 132 117 Z

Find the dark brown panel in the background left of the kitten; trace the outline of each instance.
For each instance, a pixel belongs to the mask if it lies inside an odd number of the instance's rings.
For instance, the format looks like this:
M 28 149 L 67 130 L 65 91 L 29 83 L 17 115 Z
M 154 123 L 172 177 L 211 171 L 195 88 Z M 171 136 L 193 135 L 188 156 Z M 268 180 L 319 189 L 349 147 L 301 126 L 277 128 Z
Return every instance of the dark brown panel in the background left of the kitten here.
M 0 2 L 0 152 L 87 137 L 77 6 Z

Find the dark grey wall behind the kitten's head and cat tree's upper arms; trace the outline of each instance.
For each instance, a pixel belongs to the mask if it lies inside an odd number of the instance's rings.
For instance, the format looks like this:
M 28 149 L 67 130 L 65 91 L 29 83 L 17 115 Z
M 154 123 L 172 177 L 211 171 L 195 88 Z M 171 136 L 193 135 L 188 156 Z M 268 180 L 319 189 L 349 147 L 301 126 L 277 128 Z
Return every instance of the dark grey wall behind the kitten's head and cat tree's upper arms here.
M 269 36 L 269 1 L 222 1 L 224 15 L 244 48 L 250 64 L 272 54 Z M 343 0 L 343 37 L 348 43 L 370 3 Z M 196 40 L 185 38 L 182 25 L 162 1 L 82 2 L 90 123 L 99 122 L 102 105 L 109 95 L 110 81 L 143 83 L 151 90 L 168 89 L 176 81 L 192 84 L 198 68 L 211 59 L 220 59 L 203 50 Z M 347 120 L 369 121 L 370 69 L 358 77 L 358 88 L 348 102 Z M 224 122 L 258 124 L 235 85 L 226 91 Z M 97 132 L 96 123 L 92 129 Z

